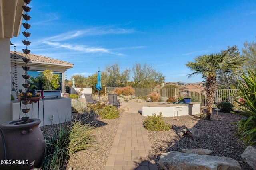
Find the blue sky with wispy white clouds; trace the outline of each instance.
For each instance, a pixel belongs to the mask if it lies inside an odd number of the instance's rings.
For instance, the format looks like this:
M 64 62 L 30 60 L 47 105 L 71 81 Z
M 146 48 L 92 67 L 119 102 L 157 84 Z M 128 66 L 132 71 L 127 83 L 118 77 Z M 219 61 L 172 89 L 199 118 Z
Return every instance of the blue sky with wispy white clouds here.
M 228 45 L 242 50 L 256 36 L 254 0 L 33 0 L 28 6 L 28 49 L 74 63 L 68 79 L 104 71 L 105 65 L 147 63 L 166 82 L 198 82 L 201 76 L 186 76 L 188 61 Z M 17 51 L 22 40 L 22 33 L 11 39 Z

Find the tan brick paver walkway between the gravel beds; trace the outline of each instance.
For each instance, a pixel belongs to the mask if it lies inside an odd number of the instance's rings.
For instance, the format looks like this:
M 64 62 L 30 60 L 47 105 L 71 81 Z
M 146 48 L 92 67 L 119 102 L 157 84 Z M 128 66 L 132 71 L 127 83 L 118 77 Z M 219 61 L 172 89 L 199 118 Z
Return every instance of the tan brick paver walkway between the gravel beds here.
M 122 113 L 105 170 L 158 170 L 139 113 Z

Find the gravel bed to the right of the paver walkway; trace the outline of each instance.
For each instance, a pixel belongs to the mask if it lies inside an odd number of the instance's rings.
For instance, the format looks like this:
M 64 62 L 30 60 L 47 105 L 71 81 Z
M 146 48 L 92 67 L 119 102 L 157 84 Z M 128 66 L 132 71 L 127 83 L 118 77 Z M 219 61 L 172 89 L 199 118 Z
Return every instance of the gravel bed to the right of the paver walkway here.
M 203 110 L 202 110 L 203 111 Z M 146 119 L 146 117 L 143 117 Z M 236 140 L 234 132 L 236 128 L 232 122 L 238 122 L 240 115 L 231 113 L 213 112 L 212 120 L 202 120 L 199 115 L 189 115 L 180 117 L 164 117 L 164 121 L 172 125 L 169 131 L 147 131 L 148 138 L 158 162 L 162 153 L 170 151 L 180 151 L 181 149 L 204 148 L 212 150 L 211 155 L 225 156 L 233 158 L 239 162 L 242 170 L 252 170 L 250 166 L 241 158 L 244 145 Z M 202 138 L 192 138 L 188 135 L 178 136 L 176 130 L 182 125 L 188 128 L 195 127 L 204 132 Z M 158 169 L 161 168 L 158 166 Z

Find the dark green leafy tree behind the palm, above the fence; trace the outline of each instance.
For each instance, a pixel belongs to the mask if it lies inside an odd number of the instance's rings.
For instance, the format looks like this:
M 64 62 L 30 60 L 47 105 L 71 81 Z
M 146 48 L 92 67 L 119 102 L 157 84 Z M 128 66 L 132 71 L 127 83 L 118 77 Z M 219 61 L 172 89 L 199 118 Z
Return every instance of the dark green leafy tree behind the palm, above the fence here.
M 227 53 L 227 57 L 229 59 L 232 59 L 234 57 L 242 57 L 240 56 L 240 52 L 239 49 L 237 48 L 236 45 L 230 47 L 228 46 L 228 48 L 226 50 L 221 50 L 221 53 Z M 240 68 L 242 70 L 242 66 Z M 217 72 L 217 88 L 222 88 L 222 89 L 237 89 L 238 86 L 238 82 L 237 82 L 237 72 L 223 72 L 223 71 L 218 71 Z

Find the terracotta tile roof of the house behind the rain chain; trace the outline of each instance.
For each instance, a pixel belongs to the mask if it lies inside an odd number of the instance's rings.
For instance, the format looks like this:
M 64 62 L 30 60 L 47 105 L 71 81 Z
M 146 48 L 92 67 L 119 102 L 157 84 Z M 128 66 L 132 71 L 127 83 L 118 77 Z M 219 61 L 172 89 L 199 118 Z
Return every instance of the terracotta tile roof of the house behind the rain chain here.
M 21 52 L 15 52 L 15 53 L 16 53 L 16 59 L 22 59 L 26 56 L 26 54 L 21 53 Z M 14 51 L 11 51 L 11 58 L 14 59 Z M 41 56 L 41 55 L 28 54 L 27 58 L 29 58 L 31 61 L 40 61 L 40 62 L 45 62 L 45 63 L 74 66 L 74 64 L 66 62 L 66 61 L 52 59 L 52 58 Z

